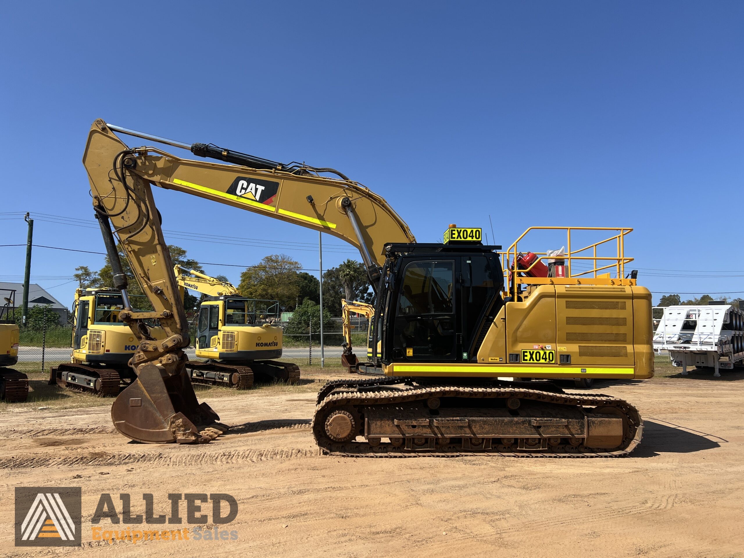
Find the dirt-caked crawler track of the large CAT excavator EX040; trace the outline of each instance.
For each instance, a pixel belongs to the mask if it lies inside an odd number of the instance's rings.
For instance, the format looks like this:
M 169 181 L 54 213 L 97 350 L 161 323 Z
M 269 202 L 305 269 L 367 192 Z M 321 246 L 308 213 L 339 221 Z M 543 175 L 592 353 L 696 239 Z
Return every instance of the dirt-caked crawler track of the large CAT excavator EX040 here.
M 643 432 L 635 407 L 602 394 L 414 385 L 400 378 L 330 383 L 312 421 L 315 441 L 328 455 L 614 458 L 632 452 Z

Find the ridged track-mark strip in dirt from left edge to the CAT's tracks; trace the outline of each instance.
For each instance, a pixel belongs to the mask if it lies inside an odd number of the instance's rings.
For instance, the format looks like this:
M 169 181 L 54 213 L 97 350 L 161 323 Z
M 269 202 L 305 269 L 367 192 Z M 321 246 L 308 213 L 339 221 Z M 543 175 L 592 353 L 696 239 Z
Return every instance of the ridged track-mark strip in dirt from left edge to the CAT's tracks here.
M 162 466 L 199 466 L 223 465 L 238 463 L 256 463 L 258 461 L 289 460 L 312 458 L 320 455 L 320 450 L 278 448 L 278 449 L 243 449 L 225 452 L 193 453 L 179 455 L 174 452 L 168 455 L 163 452 L 143 453 L 108 453 L 86 452 L 77 455 L 54 457 L 45 455 L 26 455 L 0 459 L 0 469 L 31 469 L 48 466 L 113 466 L 129 464 L 157 464 Z

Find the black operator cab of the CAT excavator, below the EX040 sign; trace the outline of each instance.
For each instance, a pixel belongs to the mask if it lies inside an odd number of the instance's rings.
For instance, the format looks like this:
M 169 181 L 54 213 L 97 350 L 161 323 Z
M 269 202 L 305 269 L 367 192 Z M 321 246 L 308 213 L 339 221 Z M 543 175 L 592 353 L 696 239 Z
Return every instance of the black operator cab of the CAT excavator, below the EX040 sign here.
M 391 245 L 383 362 L 471 362 L 503 305 L 498 248 Z

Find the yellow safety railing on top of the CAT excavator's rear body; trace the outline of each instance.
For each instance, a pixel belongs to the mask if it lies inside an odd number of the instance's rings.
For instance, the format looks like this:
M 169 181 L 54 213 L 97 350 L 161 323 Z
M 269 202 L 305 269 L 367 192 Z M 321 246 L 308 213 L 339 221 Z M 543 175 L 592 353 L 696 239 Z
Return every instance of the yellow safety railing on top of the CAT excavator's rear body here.
M 625 278 L 625 265 L 633 261 L 632 257 L 626 257 L 625 255 L 625 235 L 629 234 L 633 229 L 626 227 L 530 227 L 527 228 L 522 235 L 515 240 L 506 251 L 500 252 L 501 254 L 501 269 L 504 270 L 504 285 L 507 285 L 511 294 L 516 298 L 519 290 L 519 285 L 635 285 L 635 279 Z M 525 246 L 524 239 L 530 231 L 566 231 L 566 252 L 562 256 L 551 256 L 552 259 L 565 260 L 566 276 L 565 278 L 533 278 L 528 276 L 520 277 L 519 274 L 526 274 L 536 264 L 542 260 L 548 259 L 547 252 L 539 252 L 534 250 L 525 250 L 520 252 L 519 242 L 522 241 L 522 246 Z M 595 243 L 591 243 L 583 248 L 571 249 L 571 232 L 574 231 L 610 231 L 615 232 L 611 237 L 598 240 Z M 616 253 L 615 256 L 598 256 L 597 248 L 600 246 L 609 245 L 615 243 Z M 526 253 L 527 251 L 535 254 L 537 259 L 530 264 L 526 269 L 517 269 L 518 265 L 516 262 L 517 256 L 520 253 Z M 591 251 L 591 254 L 587 252 Z M 593 262 L 594 267 L 591 269 L 582 269 L 580 272 L 573 272 L 572 264 L 574 262 Z M 606 265 L 603 265 L 605 264 Z M 609 270 L 615 269 L 615 278 L 610 277 L 611 272 Z M 603 275 L 597 275 L 597 272 L 607 272 Z M 579 271 L 579 270 L 577 270 Z M 509 283 L 509 276 L 513 278 L 512 283 Z M 591 276 L 590 276 L 591 275 Z

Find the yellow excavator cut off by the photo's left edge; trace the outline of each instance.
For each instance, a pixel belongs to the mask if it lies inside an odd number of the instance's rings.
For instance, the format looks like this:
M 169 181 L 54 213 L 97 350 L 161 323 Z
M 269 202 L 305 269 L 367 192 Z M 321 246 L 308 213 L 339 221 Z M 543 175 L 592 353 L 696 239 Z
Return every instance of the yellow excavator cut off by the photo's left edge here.
M 7 403 L 25 401 L 28 397 L 28 376 L 7 368 L 18 363 L 20 330 L 16 324 L 16 291 L 0 289 L 0 400 Z

